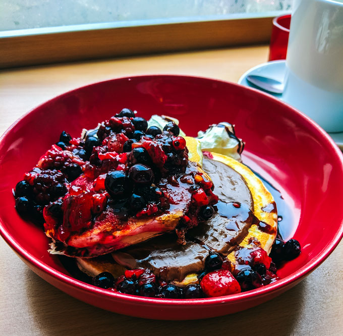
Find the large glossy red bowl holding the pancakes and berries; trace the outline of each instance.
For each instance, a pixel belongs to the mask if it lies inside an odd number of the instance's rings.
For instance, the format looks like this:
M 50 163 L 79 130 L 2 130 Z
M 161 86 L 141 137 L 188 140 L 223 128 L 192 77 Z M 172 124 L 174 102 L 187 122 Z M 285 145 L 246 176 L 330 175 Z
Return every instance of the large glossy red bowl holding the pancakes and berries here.
M 188 135 L 227 121 L 246 142 L 243 160 L 278 188 L 294 210 L 292 236 L 301 255 L 280 280 L 243 294 L 206 299 L 150 299 L 113 293 L 70 276 L 48 239 L 21 219 L 12 188 L 62 130 L 79 136 L 123 107 L 139 115 L 178 118 Z M 331 138 L 291 106 L 252 88 L 206 78 L 140 76 L 85 86 L 53 98 L 12 125 L 0 140 L 0 233 L 39 276 L 69 295 L 113 312 L 154 319 L 198 319 L 241 311 L 298 284 L 333 251 L 343 235 L 343 157 Z M 290 237 L 284 237 L 290 238 Z

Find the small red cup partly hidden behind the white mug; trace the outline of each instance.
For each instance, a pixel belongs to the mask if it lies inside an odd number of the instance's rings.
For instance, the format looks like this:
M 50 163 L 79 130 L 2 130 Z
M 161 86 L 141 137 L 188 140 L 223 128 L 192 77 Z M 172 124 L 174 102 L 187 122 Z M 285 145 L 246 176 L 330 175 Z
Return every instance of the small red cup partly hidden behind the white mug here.
M 291 14 L 281 15 L 273 19 L 268 61 L 286 59 L 290 25 Z

